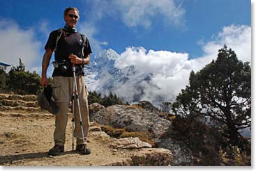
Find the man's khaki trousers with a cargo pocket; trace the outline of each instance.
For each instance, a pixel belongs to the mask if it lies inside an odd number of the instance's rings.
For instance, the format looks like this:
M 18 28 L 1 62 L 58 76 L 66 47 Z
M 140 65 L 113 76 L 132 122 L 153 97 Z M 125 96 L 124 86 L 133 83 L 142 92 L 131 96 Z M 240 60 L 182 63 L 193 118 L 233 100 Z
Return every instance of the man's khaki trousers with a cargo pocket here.
M 82 126 L 84 130 L 84 142 L 89 132 L 89 110 L 88 110 L 88 91 L 84 83 L 84 76 L 76 76 L 77 91 L 80 101 L 80 111 L 82 116 Z M 73 95 L 73 77 L 54 76 L 53 77 L 53 98 L 58 106 L 58 113 L 55 116 L 54 143 L 64 145 L 66 140 L 66 127 L 68 122 L 68 107 Z M 77 145 L 84 144 L 82 140 L 82 129 L 80 125 L 80 115 L 77 100 L 75 99 L 75 130 L 74 136 L 77 138 Z

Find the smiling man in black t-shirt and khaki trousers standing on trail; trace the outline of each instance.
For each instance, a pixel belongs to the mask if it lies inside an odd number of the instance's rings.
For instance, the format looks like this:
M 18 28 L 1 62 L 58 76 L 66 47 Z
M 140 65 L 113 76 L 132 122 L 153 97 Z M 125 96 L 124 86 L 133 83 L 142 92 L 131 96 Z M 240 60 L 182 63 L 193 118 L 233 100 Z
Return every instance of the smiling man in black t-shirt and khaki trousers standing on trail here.
M 75 65 L 77 92 L 80 101 L 84 133 L 83 140 L 80 114 L 76 102 L 74 110 L 74 136 L 77 138 L 76 150 L 82 154 L 90 154 L 91 150 L 86 147 L 86 136 L 89 132 L 89 110 L 87 101 L 88 91 L 86 90 L 84 82 L 83 67 L 90 62 L 91 47 L 89 40 L 80 33 L 77 33 L 76 25 L 80 18 L 78 9 L 71 7 L 66 8 L 63 17 L 66 25 L 62 29 L 52 31 L 45 45 L 45 54 L 42 63 L 42 79 L 40 81 L 41 86 L 47 86 L 47 67 L 54 51 L 55 65 L 52 74 L 52 96 L 57 103 L 58 113 L 55 116 L 54 147 L 50 149 L 48 154 L 56 156 L 64 152 L 68 106 L 73 95 L 73 65 Z

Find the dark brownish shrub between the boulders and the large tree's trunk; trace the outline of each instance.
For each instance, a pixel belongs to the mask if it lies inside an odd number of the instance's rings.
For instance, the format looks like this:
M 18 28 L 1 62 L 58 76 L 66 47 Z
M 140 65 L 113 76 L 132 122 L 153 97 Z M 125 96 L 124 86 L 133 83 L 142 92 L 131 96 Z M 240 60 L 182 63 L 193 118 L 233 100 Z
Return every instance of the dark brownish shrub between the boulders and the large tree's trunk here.
M 225 142 L 218 128 L 211 128 L 195 118 L 176 115 L 165 136 L 184 142 L 197 158 L 195 165 L 219 165 L 218 149 Z

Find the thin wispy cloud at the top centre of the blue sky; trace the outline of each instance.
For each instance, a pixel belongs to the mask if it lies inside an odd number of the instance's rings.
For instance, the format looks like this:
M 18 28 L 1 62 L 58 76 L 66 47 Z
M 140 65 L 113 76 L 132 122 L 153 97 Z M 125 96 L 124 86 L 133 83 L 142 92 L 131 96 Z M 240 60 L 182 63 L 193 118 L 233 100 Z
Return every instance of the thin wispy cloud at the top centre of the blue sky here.
M 113 2 L 121 13 L 123 22 L 128 27 L 144 26 L 148 28 L 152 24 L 153 17 L 160 15 L 164 17 L 168 23 L 181 25 L 181 20 L 185 10 L 176 6 L 172 0 L 128 0 Z

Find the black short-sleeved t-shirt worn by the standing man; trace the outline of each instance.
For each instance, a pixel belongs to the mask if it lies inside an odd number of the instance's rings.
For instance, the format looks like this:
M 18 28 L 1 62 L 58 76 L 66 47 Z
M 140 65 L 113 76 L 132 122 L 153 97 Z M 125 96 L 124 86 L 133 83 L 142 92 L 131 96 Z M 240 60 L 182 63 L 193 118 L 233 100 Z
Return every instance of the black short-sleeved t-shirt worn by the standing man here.
M 52 50 L 55 49 L 58 35 L 60 35 L 58 30 L 52 31 L 52 33 L 50 33 L 47 43 L 45 44 L 45 50 L 47 48 L 50 48 Z M 70 60 L 68 59 L 69 54 L 75 54 L 76 56 L 82 58 L 82 47 L 84 47 L 84 56 L 91 54 L 91 47 L 87 38 L 83 43 L 80 33 L 69 33 L 63 29 L 63 33 L 57 44 L 57 49 L 54 52 L 54 59 L 57 62 L 66 60 L 70 64 Z M 76 74 L 84 74 L 82 65 L 76 65 Z M 52 76 L 73 76 L 71 64 L 68 67 L 66 73 L 63 73 L 57 68 L 54 68 Z

